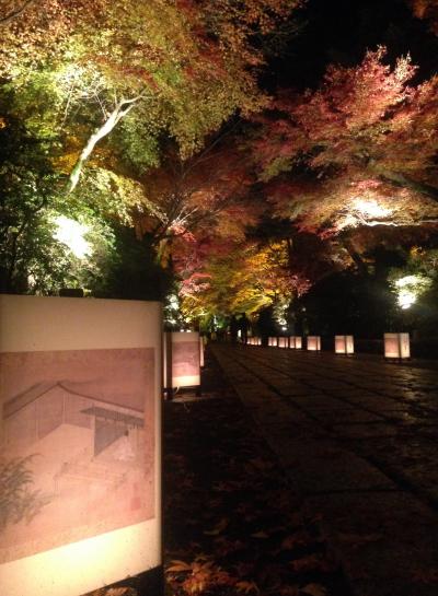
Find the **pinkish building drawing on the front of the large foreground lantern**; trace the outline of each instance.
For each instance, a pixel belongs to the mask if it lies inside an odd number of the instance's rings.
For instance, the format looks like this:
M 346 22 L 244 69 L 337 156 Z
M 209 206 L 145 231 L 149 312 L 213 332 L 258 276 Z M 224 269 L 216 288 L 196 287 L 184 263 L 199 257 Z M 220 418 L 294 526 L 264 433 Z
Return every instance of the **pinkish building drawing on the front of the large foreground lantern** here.
M 125 385 L 123 374 L 111 371 L 116 354 L 108 352 L 127 351 L 134 352 L 132 358 L 141 366 L 138 378 L 142 384 L 137 387 L 140 397 L 132 397 L 136 387 L 131 381 Z M 74 367 L 80 366 L 79 381 L 67 377 L 68 358 L 62 354 L 62 365 L 53 372 L 66 376 L 30 383 L 16 395 L 7 395 L 7 399 L 3 395 L 3 463 L 26 461 L 26 474 L 32 478 L 27 494 L 44 504 L 31 519 L 22 518 L 0 528 L 0 562 L 138 523 L 154 514 L 150 490 L 154 437 L 152 425 L 148 425 L 153 352 L 85 352 L 79 360 L 74 354 L 70 372 L 74 378 Z M 10 359 L 8 374 L 15 370 L 20 375 L 23 354 L 15 369 L 10 365 L 13 354 L 5 355 Z M 108 355 L 106 366 L 104 359 Z M 28 358 L 35 357 L 30 352 Z M 107 372 L 104 384 L 100 383 L 102 376 L 95 376 L 96 369 L 100 374 Z M 50 376 L 49 369 L 46 374 Z M 7 381 L 12 386 L 10 378 Z

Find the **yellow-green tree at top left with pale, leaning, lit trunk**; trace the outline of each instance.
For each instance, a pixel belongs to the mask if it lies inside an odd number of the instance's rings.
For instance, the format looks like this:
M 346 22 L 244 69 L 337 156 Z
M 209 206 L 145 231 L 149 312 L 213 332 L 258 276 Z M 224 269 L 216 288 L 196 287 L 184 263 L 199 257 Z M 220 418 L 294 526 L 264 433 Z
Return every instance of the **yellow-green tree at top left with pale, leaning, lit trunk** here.
M 165 131 L 187 157 L 237 110 L 260 109 L 265 100 L 254 68 L 263 52 L 252 38 L 272 31 L 293 3 L 245 0 L 237 8 L 223 0 L 212 9 L 187 0 L 41 0 L 24 11 L 8 7 L 4 14 L 18 14 L 3 22 L 3 77 L 21 94 L 33 85 L 44 89 L 46 101 L 53 95 L 54 128 L 70 120 L 77 136 L 81 114 L 79 132 L 87 137 L 73 147 L 72 191 L 96 144 L 134 110 L 137 143 L 141 132 Z

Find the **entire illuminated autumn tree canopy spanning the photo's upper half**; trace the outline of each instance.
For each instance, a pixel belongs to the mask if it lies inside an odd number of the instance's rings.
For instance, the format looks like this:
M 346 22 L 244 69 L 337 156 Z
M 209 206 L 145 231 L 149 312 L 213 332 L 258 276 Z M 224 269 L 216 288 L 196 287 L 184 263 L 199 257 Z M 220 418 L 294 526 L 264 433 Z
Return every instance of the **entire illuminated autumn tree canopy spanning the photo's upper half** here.
M 385 9 L 412 57 L 371 20 L 348 54 L 337 4 L 324 48 L 322 0 L 0 0 L 2 288 L 176 292 L 208 320 L 370 276 L 381 250 L 410 277 L 437 247 L 436 2 Z

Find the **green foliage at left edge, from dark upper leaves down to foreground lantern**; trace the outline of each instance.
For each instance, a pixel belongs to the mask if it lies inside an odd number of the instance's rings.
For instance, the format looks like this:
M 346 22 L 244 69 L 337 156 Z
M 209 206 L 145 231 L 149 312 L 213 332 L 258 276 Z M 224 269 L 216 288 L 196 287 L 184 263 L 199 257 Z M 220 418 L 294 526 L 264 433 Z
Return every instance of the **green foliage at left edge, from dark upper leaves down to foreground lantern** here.
M 57 294 L 62 287 L 93 291 L 104 284 L 112 259 L 111 218 L 128 220 L 124 180 L 97 170 L 82 194 L 68 200 L 65 176 L 53 163 L 58 141 L 46 138 L 44 126 L 28 126 L 15 97 L 8 85 L 0 86 L 0 288 L 37 294 Z M 91 257 L 78 259 L 55 239 L 59 215 L 90 227 Z

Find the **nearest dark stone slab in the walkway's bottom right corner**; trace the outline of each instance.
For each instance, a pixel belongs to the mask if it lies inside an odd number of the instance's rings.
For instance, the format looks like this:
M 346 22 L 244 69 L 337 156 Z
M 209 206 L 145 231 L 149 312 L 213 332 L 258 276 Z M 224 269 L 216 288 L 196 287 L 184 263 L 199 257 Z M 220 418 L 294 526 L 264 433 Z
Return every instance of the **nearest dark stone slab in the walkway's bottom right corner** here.
M 438 522 L 406 492 L 314 495 L 308 507 L 322 516 L 328 541 L 341 552 L 360 596 L 435 596 Z M 335 523 L 334 523 L 335 521 Z

